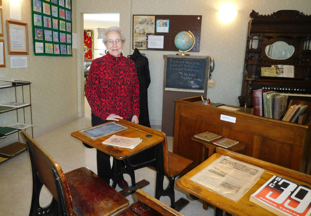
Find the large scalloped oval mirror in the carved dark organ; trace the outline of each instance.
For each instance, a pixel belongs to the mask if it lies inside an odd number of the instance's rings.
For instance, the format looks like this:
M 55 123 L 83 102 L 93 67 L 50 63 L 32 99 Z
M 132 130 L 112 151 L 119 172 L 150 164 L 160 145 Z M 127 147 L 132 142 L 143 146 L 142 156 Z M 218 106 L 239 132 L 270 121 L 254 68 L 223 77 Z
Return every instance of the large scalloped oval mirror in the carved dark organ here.
M 288 45 L 284 41 L 276 41 L 271 45 L 267 45 L 265 48 L 265 53 L 267 57 L 276 60 L 288 59 L 293 55 L 295 47 Z

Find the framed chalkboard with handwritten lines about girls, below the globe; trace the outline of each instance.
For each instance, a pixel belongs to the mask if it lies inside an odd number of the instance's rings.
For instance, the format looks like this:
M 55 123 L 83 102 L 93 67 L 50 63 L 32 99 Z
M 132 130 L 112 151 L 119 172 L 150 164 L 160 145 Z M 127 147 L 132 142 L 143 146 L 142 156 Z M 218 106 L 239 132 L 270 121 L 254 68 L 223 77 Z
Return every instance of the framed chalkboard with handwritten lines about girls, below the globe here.
M 164 55 L 164 91 L 207 92 L 208 56 Z

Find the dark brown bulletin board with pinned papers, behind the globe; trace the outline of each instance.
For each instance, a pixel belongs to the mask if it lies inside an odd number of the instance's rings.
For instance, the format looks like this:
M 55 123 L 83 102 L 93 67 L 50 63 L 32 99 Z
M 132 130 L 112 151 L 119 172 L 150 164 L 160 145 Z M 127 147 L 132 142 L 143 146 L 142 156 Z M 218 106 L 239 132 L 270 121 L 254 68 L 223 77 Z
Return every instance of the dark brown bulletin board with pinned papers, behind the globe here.
M 195 43 L 189 52 L 200 52 L 201 24 L 202 15 L 133 15 L 132 48 L 178 51 L 174 44 L 176 34 L 191 31 Z M 156 46 L 151 48 L 151 41 Z

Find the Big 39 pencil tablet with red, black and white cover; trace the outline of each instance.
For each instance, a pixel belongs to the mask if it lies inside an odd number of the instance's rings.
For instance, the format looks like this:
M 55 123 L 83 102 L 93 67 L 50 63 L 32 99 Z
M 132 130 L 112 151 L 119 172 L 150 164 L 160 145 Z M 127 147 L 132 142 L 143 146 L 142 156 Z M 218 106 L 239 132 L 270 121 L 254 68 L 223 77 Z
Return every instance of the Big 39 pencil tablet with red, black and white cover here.
M 311 214 L 311 190 L 276 175 L 252 194 L 249 201 L 279 216 Z

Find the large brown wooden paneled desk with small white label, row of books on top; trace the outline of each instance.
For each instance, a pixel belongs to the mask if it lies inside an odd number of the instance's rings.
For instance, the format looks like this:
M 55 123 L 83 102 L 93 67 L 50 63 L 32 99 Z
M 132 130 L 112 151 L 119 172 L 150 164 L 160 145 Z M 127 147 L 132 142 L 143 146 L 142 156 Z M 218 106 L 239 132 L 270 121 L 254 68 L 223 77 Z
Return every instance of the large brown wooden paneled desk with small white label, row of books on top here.
M 191 137 L 210 131 L 244 142 L 245 155 L 310 174 L 311 122 L 299 125 L 252 115 L 249 108 L 206 106 L 198 96 L 176 99 L 175 104 L 173 152 L 193 160 L 190 169 L 202 161 L 203 150 Z M 235 123 L 221 120 L 223 116 L 235 118 Z

